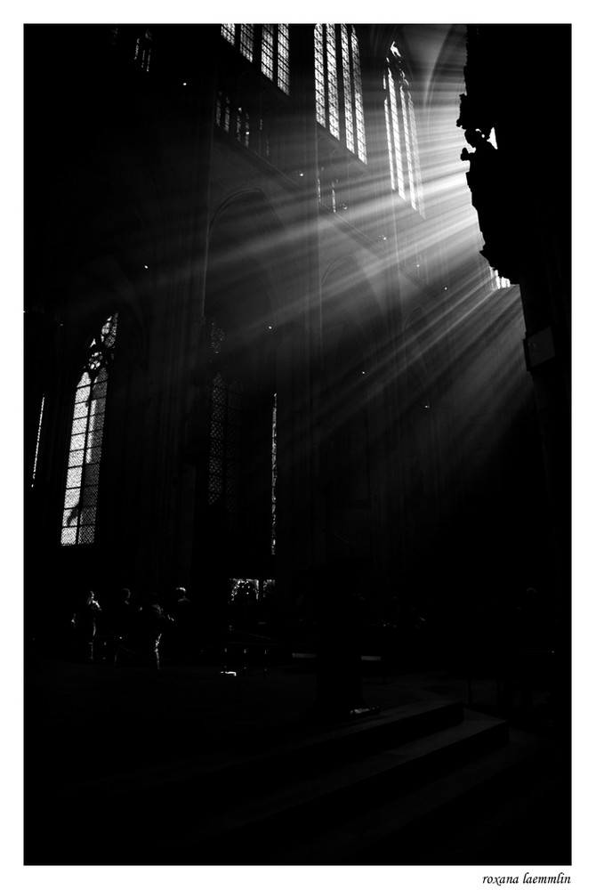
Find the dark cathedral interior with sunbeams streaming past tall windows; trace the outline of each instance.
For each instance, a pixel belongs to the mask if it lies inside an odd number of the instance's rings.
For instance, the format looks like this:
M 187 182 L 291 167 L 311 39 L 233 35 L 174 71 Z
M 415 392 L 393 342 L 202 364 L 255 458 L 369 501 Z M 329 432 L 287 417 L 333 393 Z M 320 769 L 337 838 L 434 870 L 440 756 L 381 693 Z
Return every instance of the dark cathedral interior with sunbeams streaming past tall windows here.
M 571 27 L 24 44 L 26 862 L 568 864 Z

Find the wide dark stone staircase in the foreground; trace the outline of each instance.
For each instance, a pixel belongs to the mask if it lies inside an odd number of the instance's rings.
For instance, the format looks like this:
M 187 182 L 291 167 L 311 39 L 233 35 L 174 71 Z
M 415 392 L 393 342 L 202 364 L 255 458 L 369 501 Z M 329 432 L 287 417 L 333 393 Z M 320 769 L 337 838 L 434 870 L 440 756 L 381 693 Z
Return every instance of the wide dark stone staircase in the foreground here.
M 539 753 L 503 720 L 421 700 L 86 794 L 111 864 L 427 864 L 446 824 L 512 787 Z M 73 845 L 86 864 L 92 838 L 87 823 Z

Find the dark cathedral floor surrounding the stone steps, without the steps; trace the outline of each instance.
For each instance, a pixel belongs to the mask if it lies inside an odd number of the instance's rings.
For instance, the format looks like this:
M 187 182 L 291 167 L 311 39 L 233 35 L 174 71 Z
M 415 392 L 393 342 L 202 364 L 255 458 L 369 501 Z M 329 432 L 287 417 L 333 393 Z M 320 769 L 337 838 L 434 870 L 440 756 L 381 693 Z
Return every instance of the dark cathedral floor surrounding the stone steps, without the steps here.
M 68 789 L 117 785 L 143 774 L 164 781 L 226 757 L 263 753 L 285 740 L 313 732 L 303 711 L 315 700 L 316 678 L 303 662 L 246 668 L 223 676 L 221 665 L 162 664 L 112 667 L 73 661 L 33 659 L 26 667 L 25 817 L 26 857 L 36 859 L 45 832 L 41 813 L 48 801 Z M 515 796 L 498 795 L 470 813 L 464 835 L 443 832 L 443 847 L 429 851 L 428 864 L 446 856 L 455 864 L 482 864 L 511 851 L 515 862 L 569 862 L 568 745 L 551 693 L 532 691 L 531 702 L 517 698 L 504 714 L 503 690 L 492 678 L 470 681 L 433 668 L 383 677 L 365 665 L 366 704 L 394 708 L 437 697 L 493 716 L 552 743 L 544 771 Z M 141 779 L 142 781 L 142 779 Z M 84 813 L 82 813 L 84 815 Z M 528 832 L 528 826 L 533 826 Z M 530 842 L 531 837 L 531 842 Z M 440 846 L 440 845 L 439 845 Z M 384 862 L 383 850 L 370 864 Z M 510 860 L 504 858 L 503 862 Z

